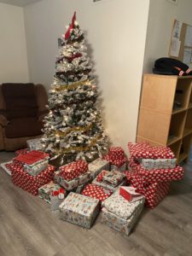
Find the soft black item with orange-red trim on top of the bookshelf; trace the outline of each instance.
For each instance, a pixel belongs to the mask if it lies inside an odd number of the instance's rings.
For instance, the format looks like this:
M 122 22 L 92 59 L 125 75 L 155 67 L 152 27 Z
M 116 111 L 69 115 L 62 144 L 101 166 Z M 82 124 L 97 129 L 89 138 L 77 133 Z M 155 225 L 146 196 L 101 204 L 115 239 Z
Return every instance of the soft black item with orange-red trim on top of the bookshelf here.
M 160 58 L 154 61 L 153 72 L 164 75 L 192 75 L 188 65 L 172 58 Z

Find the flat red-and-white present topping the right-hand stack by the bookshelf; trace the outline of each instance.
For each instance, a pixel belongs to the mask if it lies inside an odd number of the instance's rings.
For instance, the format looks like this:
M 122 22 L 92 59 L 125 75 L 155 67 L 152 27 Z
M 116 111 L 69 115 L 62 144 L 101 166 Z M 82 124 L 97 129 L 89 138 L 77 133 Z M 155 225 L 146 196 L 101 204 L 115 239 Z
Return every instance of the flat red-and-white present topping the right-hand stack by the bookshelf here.
M 171 148 L 154 147 L 149 143 L 128 143 L 131 158 L 136 159 L 173 159 L 175 158 Z

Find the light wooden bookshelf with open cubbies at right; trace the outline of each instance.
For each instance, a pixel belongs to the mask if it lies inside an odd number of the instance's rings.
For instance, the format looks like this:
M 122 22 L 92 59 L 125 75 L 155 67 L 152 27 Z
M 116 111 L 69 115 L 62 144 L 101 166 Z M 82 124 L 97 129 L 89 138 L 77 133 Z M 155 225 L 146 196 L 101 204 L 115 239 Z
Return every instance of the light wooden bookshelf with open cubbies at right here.
M 187 160 L 192 140 L 192 76 L 144 74 L 137 142 L 169 146 Z

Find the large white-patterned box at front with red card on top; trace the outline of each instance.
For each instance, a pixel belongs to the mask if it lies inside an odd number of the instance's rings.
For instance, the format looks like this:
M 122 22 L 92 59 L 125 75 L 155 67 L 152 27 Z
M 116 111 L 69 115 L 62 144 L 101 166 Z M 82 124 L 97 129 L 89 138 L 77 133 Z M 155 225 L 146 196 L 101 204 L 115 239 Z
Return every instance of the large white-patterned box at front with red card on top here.
M 143 211 L 143 204 L 144 197 L 138 201 L 129 202 L 119 195 L 118 189 L 102 202 L 102 223 L 128 236 Z

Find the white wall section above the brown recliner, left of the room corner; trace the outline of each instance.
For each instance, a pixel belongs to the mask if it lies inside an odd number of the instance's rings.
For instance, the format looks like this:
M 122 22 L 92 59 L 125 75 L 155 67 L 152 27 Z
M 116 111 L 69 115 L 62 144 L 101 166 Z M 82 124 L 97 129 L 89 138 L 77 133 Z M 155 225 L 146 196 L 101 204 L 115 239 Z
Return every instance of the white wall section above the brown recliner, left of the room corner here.
M 0 83 L 28 82 L 23 9 L 0 3 Z

